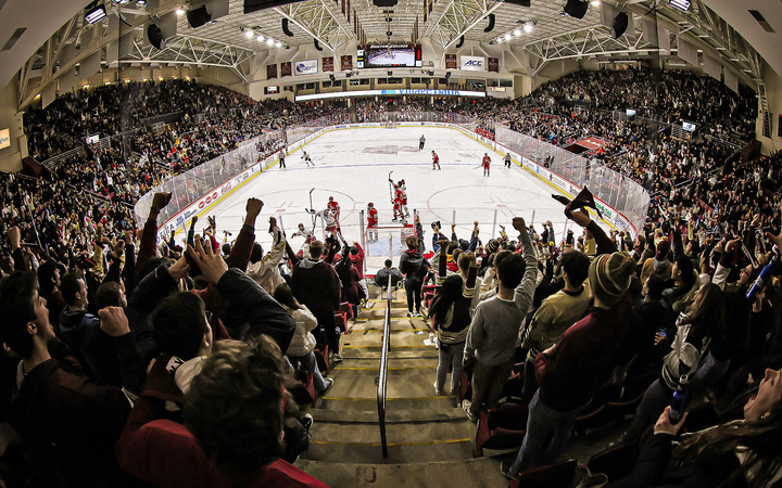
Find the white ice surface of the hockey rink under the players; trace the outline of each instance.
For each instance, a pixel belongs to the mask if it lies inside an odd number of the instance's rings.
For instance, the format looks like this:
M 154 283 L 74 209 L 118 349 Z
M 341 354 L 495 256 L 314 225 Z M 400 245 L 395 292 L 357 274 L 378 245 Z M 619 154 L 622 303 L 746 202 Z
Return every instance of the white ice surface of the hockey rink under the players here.
M 421 134 L 426 137 L 426 145 L 419 151 Z M 440 156 L 441 170 L 432 170 L 432 150 Z M 310 154 L 314 167 L 304 163 L 302 151 Z M 484 153 L 492 158 L 489 177 L 483 176 L 480 166 Z M 500 224 L 505 226 L 508 237 L 515 240 L 517 233 L 512 224 L 515 216 L 524 217 L 528 226 L 534 224 L 538 233 L 543 230 L 541 223 L 551 220 L 557 243 L 573 226 L 565 218 L 563 204 L 551 197 L 552 193 L 560 193 L 555 187 L 522 169 L 517 160 L 510 168 L 504 167 L 504 154 L 451 128 L 337 129 L 291 151 L 286 165 L 286 169 L 279 169 L 275 162 L 200 215 L 216 216 L 219 236 L 228 230 L 235 239 L 243 221 L 247 200 L 261 198 L 264 207 L 255 223 L 256 241 L 264 249 L 269 248 L 268 217 L 274 216 L 282 223 L 291 247 L 297 251 L 304 242 L 303 237 L 291 235 L 299 222 L 313 228 L 312 216 L 305 211 L 310 207 L 311 189 L 315 189 L 312 201 L 316 210 L 326 207 L 329 196 L 339 203 L 342 234 L 349 243 L 362 242 L 360 213 L 365 210 L 366 218 L 367 203 L 373 202 L 378 210 L 380 242 L 367 243 L 369 273 L 388 257 L 389 241 L 393 254 L 399 254 L 401 224 L 392 221 L 390 171 L 394 182 L 405 181 L 408 221 L 413 221 L 414 210 L 420 214 L 427 251 L 431 247 L 429 224 L 436 220 L 446 234 L 455 222 L 457 236 L 467 240 L 477 220 L 483 243 L 500 234 Z M 605 222 L 601 223 L 608 229 Z M 572 230 L 577 237 L 581 235 L 580 229 Z M 198 231 L 201 231 L 200 222 Z M 315 235 L 323 239 L 319 219 L 315 223 Z M 181 239 L 184 234 L 178 233 L 177 240 Z M 396 261 L 394 259 L 394 265 Z

